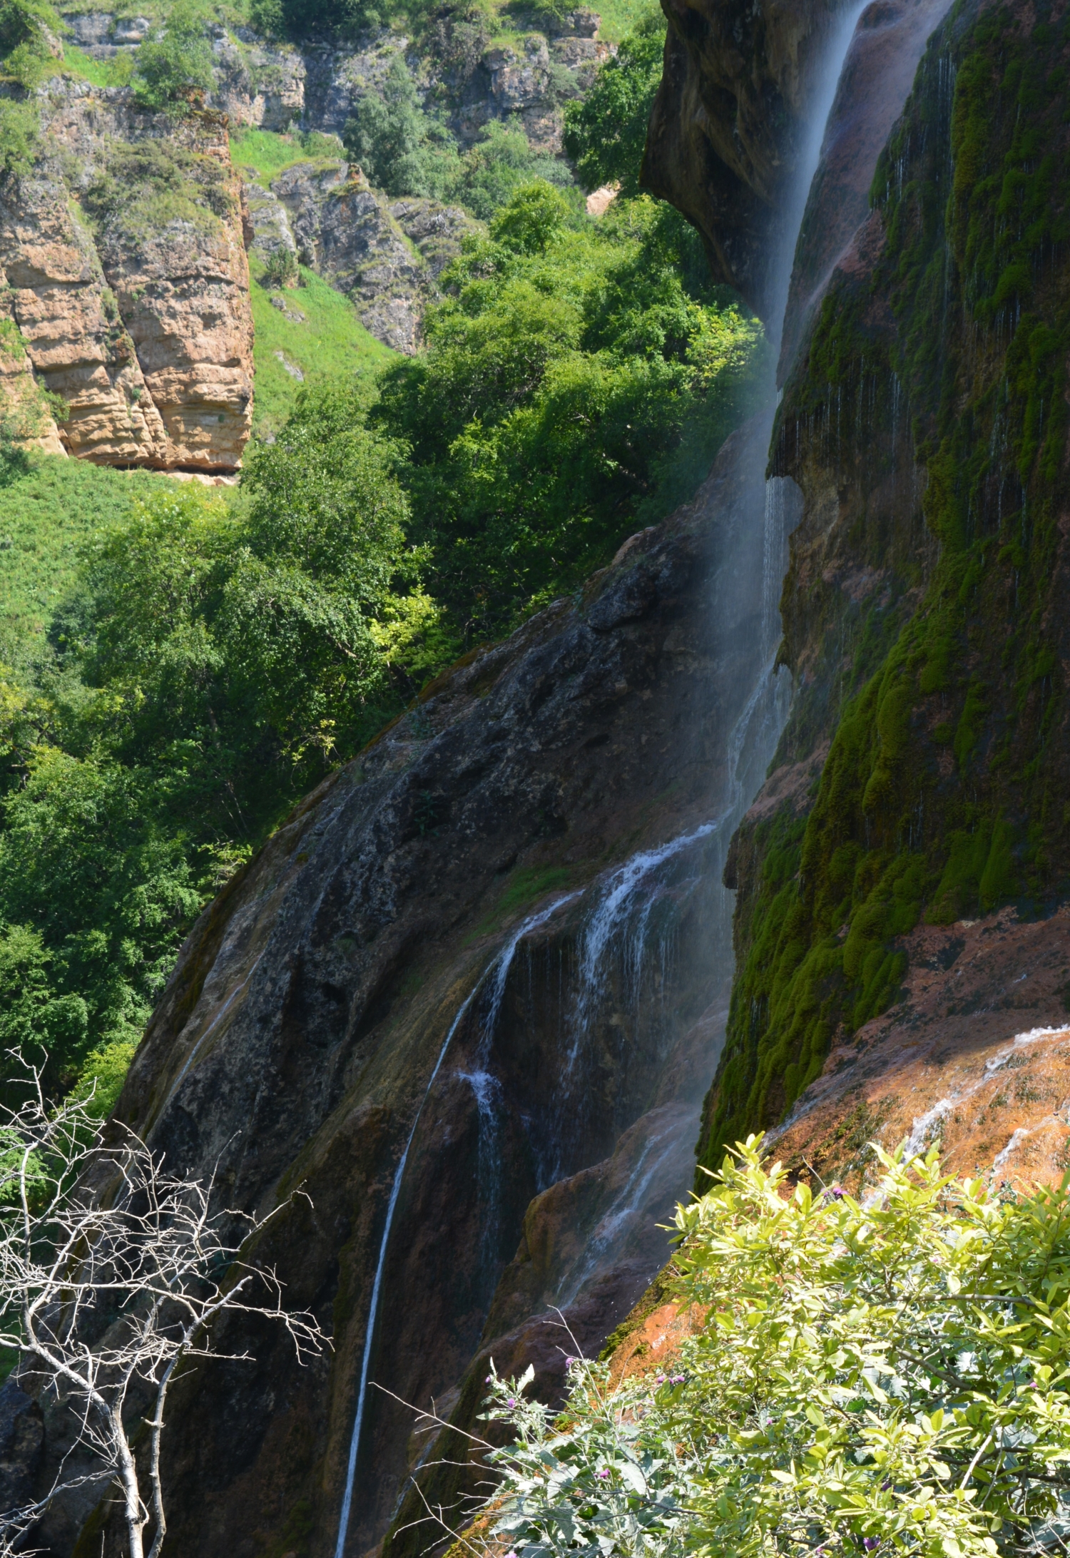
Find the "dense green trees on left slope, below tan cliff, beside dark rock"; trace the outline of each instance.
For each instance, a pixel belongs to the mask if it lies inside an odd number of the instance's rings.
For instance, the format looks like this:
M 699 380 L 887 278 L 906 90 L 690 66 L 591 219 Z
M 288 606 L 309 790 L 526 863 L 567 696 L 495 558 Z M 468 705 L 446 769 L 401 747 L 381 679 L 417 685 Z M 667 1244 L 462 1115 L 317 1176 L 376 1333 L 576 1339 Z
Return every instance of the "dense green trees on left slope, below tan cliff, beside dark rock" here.
M 377 729 L 391 667 L 411 690 L 435 631 L 388 452 L 344 396 L 302 413 L 241 502 L 157 483 L 92 538 L 3 681 L 0 1020 L 53 1083 L 129 1055 L 193 913 Z

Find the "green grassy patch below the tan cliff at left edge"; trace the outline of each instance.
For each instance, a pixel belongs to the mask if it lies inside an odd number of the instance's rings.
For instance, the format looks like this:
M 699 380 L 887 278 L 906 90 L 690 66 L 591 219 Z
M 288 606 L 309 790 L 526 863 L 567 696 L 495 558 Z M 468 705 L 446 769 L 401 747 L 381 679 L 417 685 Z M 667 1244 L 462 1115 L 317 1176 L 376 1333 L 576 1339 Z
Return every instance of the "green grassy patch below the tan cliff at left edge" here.
M 61 455 L 0 461 L 0 637 L 44 633 L 73 583 L 78 548 L 167 480 Z

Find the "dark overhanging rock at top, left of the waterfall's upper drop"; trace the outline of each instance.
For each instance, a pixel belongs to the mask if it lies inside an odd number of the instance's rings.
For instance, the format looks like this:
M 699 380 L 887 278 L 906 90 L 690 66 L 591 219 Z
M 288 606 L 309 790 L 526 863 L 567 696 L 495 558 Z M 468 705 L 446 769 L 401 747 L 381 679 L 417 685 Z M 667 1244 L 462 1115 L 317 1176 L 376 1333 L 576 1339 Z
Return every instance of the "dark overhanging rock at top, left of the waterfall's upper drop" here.
M 665 69 L 642 182 L 702 235 L 718 280 L 765 313 L 822 44 L 844 5 L 663 0 Z

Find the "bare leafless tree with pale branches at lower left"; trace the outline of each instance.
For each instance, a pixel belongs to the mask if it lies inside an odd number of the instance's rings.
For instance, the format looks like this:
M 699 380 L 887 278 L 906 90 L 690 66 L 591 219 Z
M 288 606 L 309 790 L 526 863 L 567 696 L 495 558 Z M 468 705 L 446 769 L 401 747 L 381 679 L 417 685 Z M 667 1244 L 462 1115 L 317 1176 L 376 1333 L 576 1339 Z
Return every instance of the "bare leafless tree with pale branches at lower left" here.
M 167 1173 L 162 1156 L 115 1122 L 106 1130 L 86 1102 L 50 1106 L 40 1070 L 30 1069 L 26 1094 L 0 1105 L 0 1346 L 17 1351 L 20 1384 L 53 1393 L 78 1432 L 48 1491 L 0 1513 L 0 1555 L 25 1553 L 62 1493 L 117 1483 L 129 1558 L 145 1558 L 148 1525 L 148 1558 L 159 1558 L 168 1388 L 190 1359 L 251 1355 L 218 1351 L 213 1321 L 279 1321 L 302 1363 L 327 1338 L 313 1315 L 283 1309 L 274 1270 L 240 1257 L 282 1207 L 266 1218 L 213 1211 L 212 1179 Z

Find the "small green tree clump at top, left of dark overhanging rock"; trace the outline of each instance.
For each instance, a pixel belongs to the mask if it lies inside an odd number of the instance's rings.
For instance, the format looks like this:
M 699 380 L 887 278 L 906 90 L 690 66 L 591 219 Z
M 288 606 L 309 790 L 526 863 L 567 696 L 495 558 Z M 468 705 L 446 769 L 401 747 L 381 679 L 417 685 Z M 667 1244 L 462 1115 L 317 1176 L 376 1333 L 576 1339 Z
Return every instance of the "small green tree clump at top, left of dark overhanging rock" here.
M 564 145 L 586 190 L 618 184 L 625 196 L 639 193 L 654 97 L 662 79 L 665 17 L 642 19 L 607 59 L 581 103 L 565 108 Z

